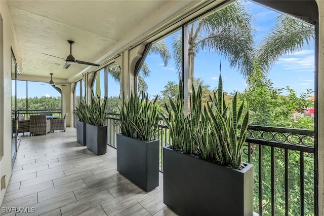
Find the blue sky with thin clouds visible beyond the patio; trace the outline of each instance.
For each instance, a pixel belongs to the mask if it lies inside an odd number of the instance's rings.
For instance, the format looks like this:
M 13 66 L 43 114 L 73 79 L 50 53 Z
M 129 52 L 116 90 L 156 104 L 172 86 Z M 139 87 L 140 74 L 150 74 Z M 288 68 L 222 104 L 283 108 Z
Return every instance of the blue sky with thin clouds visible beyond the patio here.
M 264 8 L 252 2 L 246 2 L 246 8 L 255 17 L 253 25 L 256 26 L 255 41 L 258 44 L 264 35 L 268 33 L 275 24 L 278 15 L 275 11 Z M 172 52 L 172 35 L 165 38 L 165 41 Z M 148 84 L 150 95 L 159 94 L 168 81 L 178 81 L 173 59 L 165 67 L 161 58 L 155 54 L 150 54 L 146 58 L 151 74 L 145 78 Z M 227 92 L 243 91 L 246 88 L 244 78 L 237 72 L 236 68 L 230 68 L 228 62 L 217 53 L 207 53 L 201 51 L 195 57 L 194 77 L 200 77 L 212 88 L 217 87 L 219 77 L 219 64 L 222 64 L 223 88 Z M 302 51 L 282 56 L 269 71 L 268 79 L 271 79 L 274 87 L 285 88 L 290 86 L 298 94 L 305 92 L 306 89 L 314 89 L 314 45 Z M 103 79 L 102 79 L 103 80 Z M 101 88 L 103 88 L 103 83 Z M 28 97 L 58 96 L 58 92 L 50 85 L 29 85 Z M 284 92 L 285 93 L 285 92 Z M 17 93 L 18 97 L 25 94 Z M 115 83 L 111 77 L 108 78 L 108 96 L 119 95 L 119 84 Z

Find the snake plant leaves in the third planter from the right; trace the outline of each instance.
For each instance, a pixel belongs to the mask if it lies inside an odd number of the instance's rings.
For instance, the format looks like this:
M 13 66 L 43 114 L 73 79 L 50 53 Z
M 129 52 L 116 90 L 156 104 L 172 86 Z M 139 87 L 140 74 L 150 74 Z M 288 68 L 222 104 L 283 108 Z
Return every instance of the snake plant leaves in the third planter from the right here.
M 92 97 L 89 104 L 89 123 L 102 127 L 105 124 L 107 118 L 107 95 L 103 98 L 100 98 L 99 95 L 94 95 L 92 93 Z

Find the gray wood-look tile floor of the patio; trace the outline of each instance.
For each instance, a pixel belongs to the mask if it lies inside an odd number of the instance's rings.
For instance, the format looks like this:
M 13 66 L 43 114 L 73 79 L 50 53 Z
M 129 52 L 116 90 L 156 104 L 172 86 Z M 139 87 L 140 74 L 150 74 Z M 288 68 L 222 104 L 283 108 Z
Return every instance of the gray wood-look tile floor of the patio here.
M 163 203 L 163 174 L 146 193 L 117 172 L 115 149 L 96 156 L 76 141 L 75 128 L 20 135 L 1 215 L 176 215 Z

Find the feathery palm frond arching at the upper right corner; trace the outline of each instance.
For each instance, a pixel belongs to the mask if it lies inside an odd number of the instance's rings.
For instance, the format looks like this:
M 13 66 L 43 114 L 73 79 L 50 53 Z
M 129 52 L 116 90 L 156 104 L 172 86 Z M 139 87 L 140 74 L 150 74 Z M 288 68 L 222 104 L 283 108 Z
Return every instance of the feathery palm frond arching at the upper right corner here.
M 258 48 L 257 61 L 261 69 L 269 71 L 280 56 L 300 51 L 305 44 L 309 47 L 315 39 L 314 32 L 311 24 L 279 15 L 276 25 Z

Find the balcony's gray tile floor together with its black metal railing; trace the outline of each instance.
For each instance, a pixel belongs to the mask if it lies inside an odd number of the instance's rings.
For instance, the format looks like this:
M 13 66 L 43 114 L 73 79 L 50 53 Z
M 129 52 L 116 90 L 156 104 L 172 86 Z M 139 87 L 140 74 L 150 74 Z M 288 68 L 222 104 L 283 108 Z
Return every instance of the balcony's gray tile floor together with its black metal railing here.
M 21 135 L 2 210 L 35 211 L 28 215 L 174 215 L 163 203 L 162 157 L 159 186 L 148 193 L 116 171 L 118 120 L 118 114 L 108 115 L 107 153 L 101 156 L 79 145 L 74 128 L 46 136 Z M 160 121 L 161 147 L 170 143 L 167 134 Z M 312 215 L 317 203 L 314 146 L 309 145 L 313 136 L 311 130 L 249 126 L 244 161 L 255 165 L 255 212 Z

